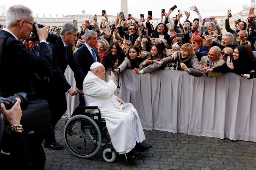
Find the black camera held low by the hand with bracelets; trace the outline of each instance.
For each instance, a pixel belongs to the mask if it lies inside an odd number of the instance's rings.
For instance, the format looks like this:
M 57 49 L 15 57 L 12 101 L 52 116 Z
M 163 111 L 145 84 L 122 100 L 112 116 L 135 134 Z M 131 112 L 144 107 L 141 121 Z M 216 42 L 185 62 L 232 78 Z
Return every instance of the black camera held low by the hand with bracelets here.
M 28 107 L 28 99 L 26 98 L 26 96 L 27 96 L 26 93 L 20 92 L 20 93 L 14 94 L 11 97 L 7 97 L 7 98 L 0 97 L 0 103 L 4 103 L 6 109 L 9 110 L 17 102 L 17 100 L 15 99 L 17 97 L 21 101 L 20 108 L 21 108 L 21 110 L 23 110 Z

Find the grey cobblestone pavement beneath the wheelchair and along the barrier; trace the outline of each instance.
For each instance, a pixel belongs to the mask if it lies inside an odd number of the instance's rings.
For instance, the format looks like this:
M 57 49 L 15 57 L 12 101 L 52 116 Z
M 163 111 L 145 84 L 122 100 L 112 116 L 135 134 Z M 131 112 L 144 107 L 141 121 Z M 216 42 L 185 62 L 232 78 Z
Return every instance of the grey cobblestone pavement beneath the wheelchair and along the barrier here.
M 64 145 L 64 150 L 44 148 L 45 169 L 256 169 L 255 142 L 188 136 L 159 130 L 144 130 L 145 142 L 152 144 L 152 148 L 141 153 L 141 157 L 133 162 L 126 162 L 124 155 L 117 154 L 113 163 L 107 163 L 101 152 L 89 159 L 82 159 L 66 146 L 64 125 L 65 119 L 61 119 L 55 128 L 57 142 Z

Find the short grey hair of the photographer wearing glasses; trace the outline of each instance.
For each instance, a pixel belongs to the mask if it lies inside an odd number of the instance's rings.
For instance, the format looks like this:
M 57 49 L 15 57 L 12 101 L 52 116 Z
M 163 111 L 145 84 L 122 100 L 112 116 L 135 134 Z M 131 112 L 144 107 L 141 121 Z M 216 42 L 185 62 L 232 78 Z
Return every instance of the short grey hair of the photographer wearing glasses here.
M 6 12 L 5 20 L 6 27 L 13 27 L 18 24 L 18 21 L 30 21 L 32 16 L 32 10 L 25 5 L 13 5 Z

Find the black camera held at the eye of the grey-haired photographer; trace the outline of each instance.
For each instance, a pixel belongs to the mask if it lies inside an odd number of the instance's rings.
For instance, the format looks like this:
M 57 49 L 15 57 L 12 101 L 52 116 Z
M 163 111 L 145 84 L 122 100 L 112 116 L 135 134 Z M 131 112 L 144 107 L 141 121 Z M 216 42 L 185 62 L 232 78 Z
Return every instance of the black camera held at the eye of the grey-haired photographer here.
M 34 21 L 34 24 L 37 24 L 38 28 L 43 28 L 44 25 L 42 24 L 39 24 L 37 22 Z M 58 39 L 58 35 L 56 32 L 53 32 L 53 31 L 48 31 L 48 37 L 46 39 L 47 42 L 50 42 L 50 43 L 56 43 L 56 40 Z M 37 32 L 36 32 L 36 27 L 34 26 L 34 29 L 33 31 L 31 31 L 29 37 L 28 37 L 28 40 L 30 41 L 39 41 L 39 37 L 37 35 Z

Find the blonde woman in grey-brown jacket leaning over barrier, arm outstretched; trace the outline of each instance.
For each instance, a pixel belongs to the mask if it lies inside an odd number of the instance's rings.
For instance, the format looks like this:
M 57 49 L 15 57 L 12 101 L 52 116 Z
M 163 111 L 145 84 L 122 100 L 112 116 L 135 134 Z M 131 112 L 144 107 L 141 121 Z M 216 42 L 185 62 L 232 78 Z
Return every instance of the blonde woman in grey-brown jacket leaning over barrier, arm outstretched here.
M 177 70 L 187 71 L 189 75 L 195 77 L 201 77 L 202 73 L 200 72 L 200 64 L 197 60 L 196 53 L 193 49 L 193 46 L 189 43 L 185 43 L 181 46 L 180 51 L 175 52 L 172 57 L 166 57 L 160 61 L 154 61 L 154 64 L 149 65 L 148 67 L 143 68 L 138 71 L 134 69 L 136 74 L 149 73 L 159 68 L 163 64 L 168 63 L 178 63 Z

